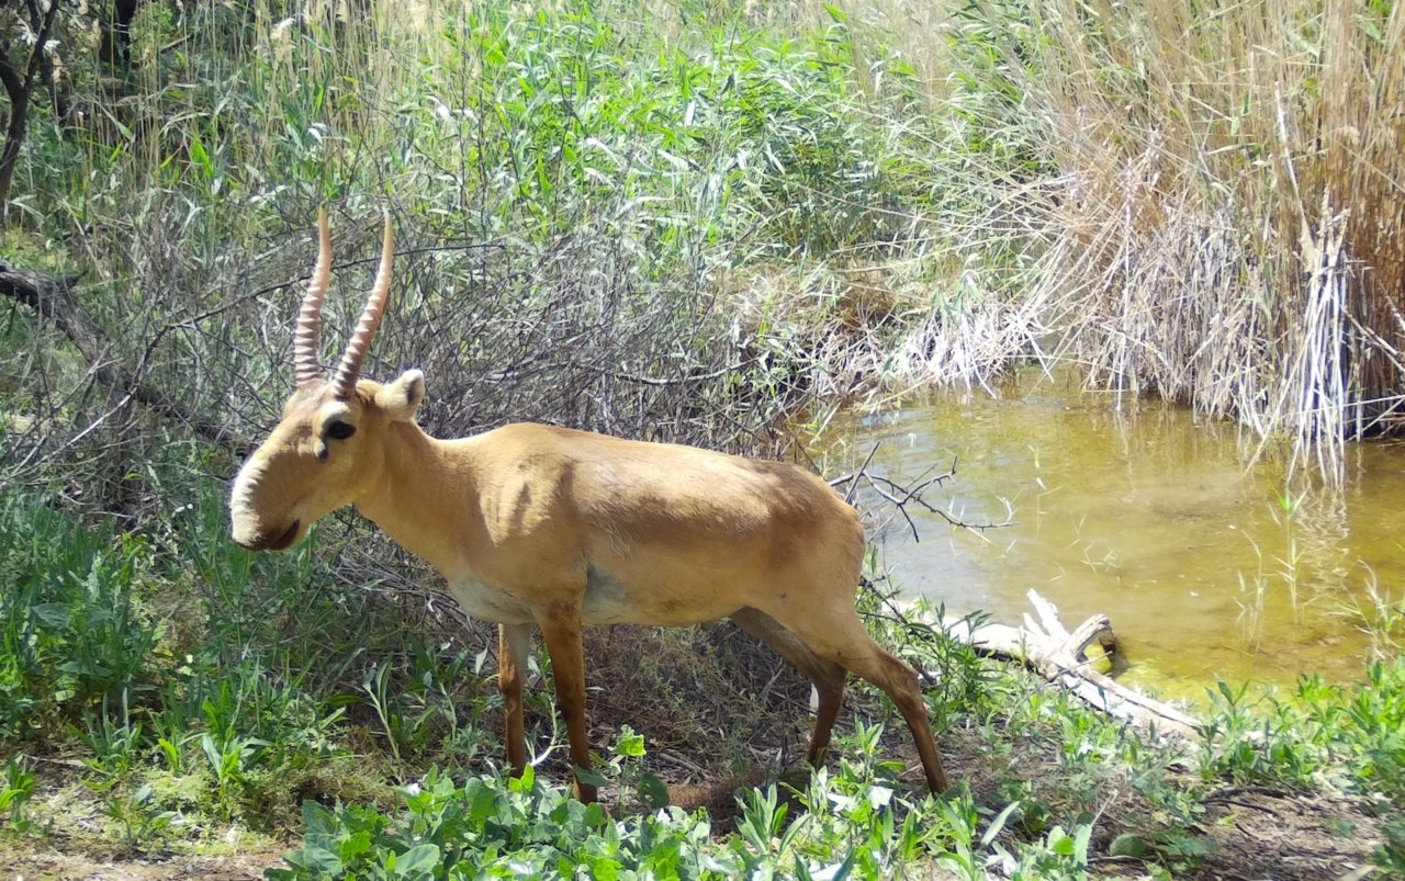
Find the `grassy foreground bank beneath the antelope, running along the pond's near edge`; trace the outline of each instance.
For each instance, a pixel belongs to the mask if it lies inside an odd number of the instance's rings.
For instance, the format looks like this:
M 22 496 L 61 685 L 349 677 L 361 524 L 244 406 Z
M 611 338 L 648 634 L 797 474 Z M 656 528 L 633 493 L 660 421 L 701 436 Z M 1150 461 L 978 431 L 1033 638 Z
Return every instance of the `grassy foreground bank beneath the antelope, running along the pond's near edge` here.
M 562 788 L 569 769 L 540 684 L 528 725 L 545 762 L 504 777 L 482 670 L 490 634 L 340 583 L 318 562 L 334 528 L 273 556 L 219 541 L 218 497 L 173 518 L 180 541 L 32 499 L 0 514 L 15 586 L 0 596 L 0 840 L 30 871 L 62 874 L 53 853 L 176 854 L 208 868 L 288 851 L 278 877 L 577 866 L 596 877 L 1215 877 L 1281 873 L 1276 860 L 1295 853 L 1312 877 L 1373 853 L 1401 870 L 1405 857 L 1398 659 L 1354 686 L 1307 677 L 1291 696 L 1224 686 L 1198 745 L 1158 745 L 940 632 L 877 615 L 887 644 L 943 672 L 929 697 L 960 783 L 933 798 L 901 719 L 865 690 L 828 770 L 809 774 L 794 766 L 804 683 L 729 628 L 686 644 L 597 635 L 587 655 L 603 687 L 607 814 Z M 617 669 L 621 649 L 632 673 Z M 794 752 L 777 755 L 785 743 Z M 1256 832 L 1262 818 L 1284 823 L 1277 837 Z

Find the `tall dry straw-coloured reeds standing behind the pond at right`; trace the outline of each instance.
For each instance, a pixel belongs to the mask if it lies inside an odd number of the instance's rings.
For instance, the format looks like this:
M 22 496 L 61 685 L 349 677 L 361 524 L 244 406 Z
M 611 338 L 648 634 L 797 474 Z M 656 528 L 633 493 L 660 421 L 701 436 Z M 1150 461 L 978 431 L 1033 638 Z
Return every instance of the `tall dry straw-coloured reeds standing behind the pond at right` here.
M 1000 13 L 986 21 L 1055 170 L 1031 204 L 1030 298 L 1059 353 L 1290 438 L 1328 475 L 1342 441 L 1398 427 L 1405 8 L 1030 0 Z

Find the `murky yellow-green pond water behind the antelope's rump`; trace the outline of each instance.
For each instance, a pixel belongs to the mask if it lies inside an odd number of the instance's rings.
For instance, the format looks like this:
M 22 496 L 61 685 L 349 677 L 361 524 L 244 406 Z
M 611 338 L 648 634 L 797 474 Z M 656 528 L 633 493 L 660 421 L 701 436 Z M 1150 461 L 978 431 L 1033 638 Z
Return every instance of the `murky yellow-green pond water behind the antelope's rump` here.
M 1066 625 L 1107 613 L 1132 669 L 1125 681 L 1201 697 L 1215 677 L 1291 683 L 1360 673 L 1370 586 L 1405 594 L 1405 451 L 1359 445 L 1338 493 L 1283 500 L 1283 466 L 1246 466 L 1236 429 L 1189 410 L 1026 374 L 1019 384 L 851 417 L 826 431 L 829 469 L 874 465 L 895 479 L 957 475 L 882 548 L 912 593 L 1019 622 L 1030 587 Z M 1248 441 L 1245 441 L 1248 443 Z M 837 457 L 839 461 L 833 461 Z

